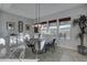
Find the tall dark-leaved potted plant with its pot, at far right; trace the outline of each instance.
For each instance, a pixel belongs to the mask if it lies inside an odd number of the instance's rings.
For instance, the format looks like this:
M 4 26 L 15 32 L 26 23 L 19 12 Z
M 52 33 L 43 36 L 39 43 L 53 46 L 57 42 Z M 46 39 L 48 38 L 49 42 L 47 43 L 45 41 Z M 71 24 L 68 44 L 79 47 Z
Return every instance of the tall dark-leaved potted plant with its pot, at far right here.
M 85 14 L 80 15 L 78 19 L 74 19 L 73 25 L 78 25 L 80 29 L 80 32 L 78 33 L 78 37 L 80 39 L 80 45 L 78 45 L 78 53 L 80 54 L 87 54 L 87 47 L 84 46 L 84 36 L 86 34 L 86 28 L 87 28 L 87 17 Z

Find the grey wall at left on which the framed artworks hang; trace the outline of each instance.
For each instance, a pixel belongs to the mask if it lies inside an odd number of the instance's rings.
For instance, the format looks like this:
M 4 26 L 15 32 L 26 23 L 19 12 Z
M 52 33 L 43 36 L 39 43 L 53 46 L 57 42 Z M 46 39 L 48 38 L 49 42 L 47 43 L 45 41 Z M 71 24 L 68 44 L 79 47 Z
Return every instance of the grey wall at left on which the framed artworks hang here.
M 23 17 L 14 15 L 8 12 L 0 11 L 0 37 L 6 37 L 8 36 L 8 31 L 7 31 L 7 21 L 8 22 L 15 22 L 15 30 L 12 31 L 13 33 L 18 34 L 19 33 L 19 21 L 23 21 L 23 33 L 25 33 L 25 24 L 30 24 L 30 31 L 29 33 L 32 35 L 32 24 L 33 20 L 32 19 L 26 19 Z

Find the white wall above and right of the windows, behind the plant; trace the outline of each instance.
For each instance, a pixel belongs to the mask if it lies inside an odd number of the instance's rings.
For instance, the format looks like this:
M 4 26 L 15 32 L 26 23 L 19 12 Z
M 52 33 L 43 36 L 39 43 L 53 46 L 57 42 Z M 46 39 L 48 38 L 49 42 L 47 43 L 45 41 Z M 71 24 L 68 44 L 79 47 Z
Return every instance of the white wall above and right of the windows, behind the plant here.
M 59 18 L 70 17 L 72 18 L 70 23 L 72 23 L 74 18 L 77 18 L 80 14 L 87 14 L 87 4 L 81 4 L 81 6 L 75 7 L 73 9 L 68 9 L 66 11 L 62 11 L 62 12 L 57 12 L 57 13 L 54 13 L 51 15 L 43 17 L 43 18 L 41 18 L 41 21 L 47 21 L 47 20 L 52 20 L 52 19 L 58 20 Z M 78 32 L 79 32 L 79 29 L 74 28 L 72 25 L 70 40 L 63 42 L 63 43 L 59 43 L 59 45 L 64 46 L 64 47 L 77 50 L 77 45 L 79 45 L 79 43 L 80 43 L 79 39 L 76 39 L 76 35 Z M 85 40 L 85 45 L 87 46 L 86 40 Z

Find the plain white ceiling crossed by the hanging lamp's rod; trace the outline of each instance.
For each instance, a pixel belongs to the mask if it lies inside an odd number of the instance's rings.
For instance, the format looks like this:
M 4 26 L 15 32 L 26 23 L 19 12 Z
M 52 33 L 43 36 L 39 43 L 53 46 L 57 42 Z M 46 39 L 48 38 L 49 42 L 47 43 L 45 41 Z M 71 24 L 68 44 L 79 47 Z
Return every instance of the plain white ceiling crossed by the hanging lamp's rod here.
M 80 3 L 40 3 L 40 17 L 72 9 L 79 4 Z M 0 3 L 0 9 L 30 19 L 35 19 L 39 11 L 36 3 Z

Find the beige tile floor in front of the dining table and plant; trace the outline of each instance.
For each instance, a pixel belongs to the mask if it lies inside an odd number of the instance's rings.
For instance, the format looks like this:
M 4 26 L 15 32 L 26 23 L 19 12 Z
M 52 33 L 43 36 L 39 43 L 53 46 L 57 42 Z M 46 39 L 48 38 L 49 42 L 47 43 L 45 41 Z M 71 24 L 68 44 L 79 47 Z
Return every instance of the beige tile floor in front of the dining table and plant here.
M 56 48 L 55 52 L 41 54 L 39 57 L 40 62 L 87 62 L 87 55 L 63 47 Z

